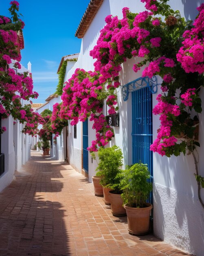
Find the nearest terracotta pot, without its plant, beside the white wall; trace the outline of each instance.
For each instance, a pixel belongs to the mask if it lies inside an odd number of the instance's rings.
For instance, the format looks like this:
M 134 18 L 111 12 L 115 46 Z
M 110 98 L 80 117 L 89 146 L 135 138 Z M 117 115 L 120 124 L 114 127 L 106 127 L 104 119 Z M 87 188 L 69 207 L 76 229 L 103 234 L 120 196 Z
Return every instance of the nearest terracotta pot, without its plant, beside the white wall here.
M 142 236 L 149 232 L 149 216 L 153 206 L 149 203 L 146 203 L 146 205 L 147 207 L 144 208 L 133 208 L 124 205 L 129 233 Z

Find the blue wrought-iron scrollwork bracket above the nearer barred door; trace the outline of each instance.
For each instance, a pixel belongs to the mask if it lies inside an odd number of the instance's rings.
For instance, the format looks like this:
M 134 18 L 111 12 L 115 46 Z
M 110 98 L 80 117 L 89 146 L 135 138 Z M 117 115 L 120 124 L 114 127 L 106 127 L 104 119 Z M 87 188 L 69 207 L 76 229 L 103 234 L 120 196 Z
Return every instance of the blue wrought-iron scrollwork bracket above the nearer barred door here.
M 123 88 L 122 88 L 123 100 L 127 101 L 130 92 L 134 92 L 146 86 L 148 86 L 149 91 L 152 94 L 155 94 L 157 92 L 157 85 L 161 85 L 161 84 L 157 83 L 156 76 L 152 76 L 152 78 L 149 78 L 148 76 L 140 77 L 132 82 L 127 83 L 126 85 L 123 85 Z

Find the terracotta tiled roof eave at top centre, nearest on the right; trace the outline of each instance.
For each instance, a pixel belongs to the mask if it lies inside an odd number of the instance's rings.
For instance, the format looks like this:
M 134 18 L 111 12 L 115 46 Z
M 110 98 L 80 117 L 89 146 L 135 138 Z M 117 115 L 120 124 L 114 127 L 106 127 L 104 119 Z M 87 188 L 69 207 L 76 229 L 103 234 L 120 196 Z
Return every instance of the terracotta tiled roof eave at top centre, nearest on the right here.
M 79 23 L 75 36 L 83 38 L 102 3 L 103 0 L 90 0 L 90 3 L 88 4 L 88 7 Z

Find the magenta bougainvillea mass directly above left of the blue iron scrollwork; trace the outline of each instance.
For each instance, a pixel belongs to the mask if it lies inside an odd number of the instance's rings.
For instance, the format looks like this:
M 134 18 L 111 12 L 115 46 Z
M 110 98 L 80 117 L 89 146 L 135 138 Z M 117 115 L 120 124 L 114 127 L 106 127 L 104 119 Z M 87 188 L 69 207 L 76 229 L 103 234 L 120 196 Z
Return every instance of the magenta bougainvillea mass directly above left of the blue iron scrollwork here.
M 127 54 L 132 54 L 132 56 L 137 56 L 138 54 L 138 56 L 143 57 L 149 53 L 147 47 L 141 46 L 136 51 L 125 42 L 135 38 L 141 44 L 146 40 L 150 32 L 140 28 L 140 24 L 145 22 L 153 13 L 148 11 L 138 13 L 134 19 L 133 28 L 129 27 L 128 13 L 129 9 L 125 7 L 123 8 L 123 18 L 121 20 L 118 20 L 118 17 L 107 16 L 105 18 L 107 25 L 101 29 L 97 45 L 90 51 L 90 56 L 97 59 L 94 63 L 95 71 L 99 71 L 102 75 L 99 81 L 104 83 L 107 79 L 111 79 L 115 88 L 120 85 L 119 83 L 115 84 L 115 81 L 118 82 L 116 78 L 121 71 L 121 63 L 126 61 Z M 115 61 L 116 55 L 119 56 L 119 62 Z

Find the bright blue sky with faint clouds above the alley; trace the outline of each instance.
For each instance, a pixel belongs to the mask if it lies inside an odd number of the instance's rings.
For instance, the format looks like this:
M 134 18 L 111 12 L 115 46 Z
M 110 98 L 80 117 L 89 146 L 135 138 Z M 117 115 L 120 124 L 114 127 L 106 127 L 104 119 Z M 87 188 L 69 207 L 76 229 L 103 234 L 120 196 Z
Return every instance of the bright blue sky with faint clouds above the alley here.
M 17 0 L 25 22 L 25 48 L 21 63 L 32 64 L 34 90 L 39 93 L 33 103 L 44 103 L 55 92 L 57 69 L 61 57 L 78 53 L 81 39 L 75 37 L 79 22 L 90 0 Z M 0 0 L 0 14 L 9 15 L 11 0 Z

